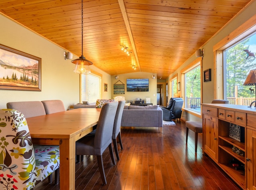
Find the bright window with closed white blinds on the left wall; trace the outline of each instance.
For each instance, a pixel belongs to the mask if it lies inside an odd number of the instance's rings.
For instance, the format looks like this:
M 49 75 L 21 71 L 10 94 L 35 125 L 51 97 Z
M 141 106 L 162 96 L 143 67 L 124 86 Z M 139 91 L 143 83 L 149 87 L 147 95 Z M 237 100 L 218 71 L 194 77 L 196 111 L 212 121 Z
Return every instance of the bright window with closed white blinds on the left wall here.
M 101 99 L 101 76 L 96 74 L 81 74 L 81 102 L 88 101 L 90 103 Z

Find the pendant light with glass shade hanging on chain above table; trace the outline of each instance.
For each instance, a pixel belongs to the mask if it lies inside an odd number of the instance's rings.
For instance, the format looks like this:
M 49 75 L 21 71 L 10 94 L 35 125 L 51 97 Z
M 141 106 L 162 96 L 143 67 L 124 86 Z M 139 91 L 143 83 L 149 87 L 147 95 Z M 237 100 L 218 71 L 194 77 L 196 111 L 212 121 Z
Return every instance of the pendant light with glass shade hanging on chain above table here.
M 75 68 L 74 68 L 74 72 L 78 73 L 78 74 L 89 74 L 91 73 L 89 65 L 92 65 L 92 62 L 90 62 L 89 60 L 87 60 L 84 56 L 83 56 L 83 0 L 82 0 L 82 55 L 81 57 L 79 57 L 78 59 L 72 60 L 71 62 L 76 64 Z

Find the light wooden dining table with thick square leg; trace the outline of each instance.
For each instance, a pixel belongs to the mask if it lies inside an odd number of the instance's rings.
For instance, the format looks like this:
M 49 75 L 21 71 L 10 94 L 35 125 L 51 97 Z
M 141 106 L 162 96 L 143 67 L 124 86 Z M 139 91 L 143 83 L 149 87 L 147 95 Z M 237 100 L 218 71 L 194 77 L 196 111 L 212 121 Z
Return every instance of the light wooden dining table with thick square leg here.
M 33 144 L 60 146 L 60 189 L 75 189 L 76 141 L 92 132 L 100 108 L 78 108 L 26 118 Z

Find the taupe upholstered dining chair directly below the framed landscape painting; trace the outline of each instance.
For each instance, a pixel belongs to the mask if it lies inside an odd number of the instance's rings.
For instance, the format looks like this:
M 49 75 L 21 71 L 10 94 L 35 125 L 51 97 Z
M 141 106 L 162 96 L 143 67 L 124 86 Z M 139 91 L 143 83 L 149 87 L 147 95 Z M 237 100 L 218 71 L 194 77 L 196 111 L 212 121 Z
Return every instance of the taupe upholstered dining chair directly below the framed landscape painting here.
M 18 110 L 25 118 L 46 115 L 44 105 L 40 101 L 23 101 L 23 102 L 8 102 L 6 104 L 8 109 Z M 60 180 L 60 168 L 55 170 L 55 184 L 57 185 Z M 52 174 L 48 176 L 49 184 L 52 183 Z

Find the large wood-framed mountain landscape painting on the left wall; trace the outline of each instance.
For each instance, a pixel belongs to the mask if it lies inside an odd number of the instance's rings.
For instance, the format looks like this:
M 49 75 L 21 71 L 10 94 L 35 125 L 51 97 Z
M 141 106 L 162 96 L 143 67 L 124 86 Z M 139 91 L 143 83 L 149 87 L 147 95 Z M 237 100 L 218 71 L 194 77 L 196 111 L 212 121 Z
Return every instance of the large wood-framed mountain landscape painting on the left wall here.
M 0 90 L 41 91 L 41 58 L 0 44 Z

